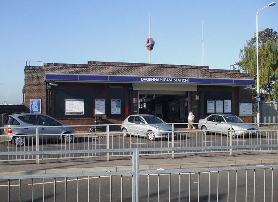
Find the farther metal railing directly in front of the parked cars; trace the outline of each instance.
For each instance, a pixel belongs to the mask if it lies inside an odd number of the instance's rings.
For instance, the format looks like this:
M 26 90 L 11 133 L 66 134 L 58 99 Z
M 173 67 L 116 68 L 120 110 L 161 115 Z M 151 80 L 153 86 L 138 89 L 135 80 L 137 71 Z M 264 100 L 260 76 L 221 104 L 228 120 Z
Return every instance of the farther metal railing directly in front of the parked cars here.
M 208 123 L 209 124 L 209 123 Z M 221 125 L 222 123 L 217 123 Z M 243 123 L 245 124 L 245 123 Z M 106 156 L 109 160 L 110 156 L 115 155 L 131 155 L 127 152 L 109 152 L 109 153 L 95 153 L 97 149 L 146 149 L 146 148 L 185 148 L 179 151 L 145 151 L 140 155 L 148 154 L 170 154 L 174 158 L 175 153 L 188 153 L 188 152 L 232 152 L 236 151 L 277 151 L 278 147 L 278 128 L 259 128 L 258 130 L 243 130 L 234 129 L 233 124 L 227 129 L 217 130 L 212 132 L 210 130 L 202 129 L 185 129 L 181 128 L 184 124 L 171 124 L 170 131 L 162 131 L 159 126 L 165 124 L 156 124 L 157 131 L 148 130 L 143 131 L 144 127 L 153 126 L 153 124 L 134 124 L 134 125 L 97 125 L 102 126 L 103 131 L 90 132 L 90 127 L 96 125 L 79 125 L 71 126 L 76 130 L 73 141 L 71 143 L 64 143 L 61 141 L 62 136 L 65 134 L 40 134 L 40 127 L 36 127 L 36 134 L 31 135 L 15 135 L 12 138 L 22 136 L 25 143 L 22 146 L 16 146 L 11 142 L 4 141 L 10 140 L 9 135 L 1 135 L 0 144 L 0 161 L 14 161 L 14 160 L 37 160 L 39 159 L 52 159 L 52 158 L 80 158 L 80 157 L 95 157 Z M 169 124 L 168 124 L 169 125 Z M 212 124 L 214 125 L 214 124 Z M 256 123 L 254 124 L 256 125 Z M 121 131 L 120 128 L 128 128 L 127 131 Z M 54 127 L 54 126 L 44 126 Z M 20 127 L 13 127 L 20 128 Z M 88 128 L 87 131 L 80 129 Z M 133 131 L 129 131 L 132 128 Z M 3 128 L 0 128 L 3 129 Z M 112 130 L 117 129 L 117 130 Z M 232 136 L 230 134 L 240 134 Z M 148 139 L 148 135 L 162 137 Z M 66 134 L 69 135 L 69 134 Z M 268 145 L 265 147 L 265 145 Z M 269 146 L 271 145 L 271 146 Z M 225 148 L 225 146 L 240 146 L 237 148 Z M 253 147 L 256 146 L 256 147 Z M 205 148 L 205 149 L 204 149 Z M 70 150 L 88 150 L 90 152 L 80 153 L 51 153 L 51 151 L 70 151 Z M 23 154 L 26 151 L 44 151 L 41 154 Z M 9 155 L 8 155 L 9 154 Z

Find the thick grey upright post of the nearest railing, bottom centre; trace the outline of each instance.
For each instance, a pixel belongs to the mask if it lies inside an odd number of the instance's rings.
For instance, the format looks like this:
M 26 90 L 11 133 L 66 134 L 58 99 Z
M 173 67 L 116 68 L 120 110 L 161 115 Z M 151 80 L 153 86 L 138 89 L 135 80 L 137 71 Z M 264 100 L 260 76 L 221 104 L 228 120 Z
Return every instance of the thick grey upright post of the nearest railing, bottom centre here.
M 132 202 L 139 201 L 139 151 L 133 149 L 132 153 Z

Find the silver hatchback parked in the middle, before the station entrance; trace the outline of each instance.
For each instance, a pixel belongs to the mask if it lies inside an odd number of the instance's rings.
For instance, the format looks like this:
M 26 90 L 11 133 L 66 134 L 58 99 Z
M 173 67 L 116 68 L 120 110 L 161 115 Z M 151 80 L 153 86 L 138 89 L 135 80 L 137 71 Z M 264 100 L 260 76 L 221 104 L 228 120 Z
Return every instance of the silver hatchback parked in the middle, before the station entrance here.
M 172 126 L 166 124 L 159 117 L 149 114 L 128 116 L 122 122 L 121 131 L 124 137 L 128 135 L 137 135 L 147 137 L 148 140 L 172 137 Z M 174 131 L 176 131 L 176 129 L 174 129 Z

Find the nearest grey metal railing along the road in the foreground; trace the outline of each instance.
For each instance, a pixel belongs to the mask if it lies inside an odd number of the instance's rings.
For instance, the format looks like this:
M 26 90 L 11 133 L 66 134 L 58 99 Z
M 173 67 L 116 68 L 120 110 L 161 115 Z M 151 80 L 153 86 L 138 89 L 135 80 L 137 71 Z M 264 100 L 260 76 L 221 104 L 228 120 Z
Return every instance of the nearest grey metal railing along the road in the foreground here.
M 239 146 L 233 146 L 234 148 Z M 183 148 L 102 149 L 95 153 L 130 152 L 128 171 L 0 175 L 1 201 L 277 201 L 278 165 L 139 170 L 145 151 Z M 31 153 L 44 153 L 33 151 Z M 81 153 L 87 151 L 51 151 Z M 24 152 L 28 153 L 28 152 Z M 30 152 L 29 152 L 30 153 Z

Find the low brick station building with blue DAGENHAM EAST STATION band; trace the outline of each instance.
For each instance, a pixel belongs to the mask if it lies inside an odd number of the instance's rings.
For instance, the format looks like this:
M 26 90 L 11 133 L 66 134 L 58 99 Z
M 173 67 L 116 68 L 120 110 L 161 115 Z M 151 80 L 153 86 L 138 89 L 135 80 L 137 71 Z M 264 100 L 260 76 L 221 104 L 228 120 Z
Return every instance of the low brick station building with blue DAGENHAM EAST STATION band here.
M 30 62 L 30 61 L 29 61 Z M 87 64 L 42 63 L 24 69 L 24 105 L 32 113 L 45 113 L 68 125 L 120 124 L 128 115 L 154 115 L 168 120 L 175 108 L 175 122 L 187 123 L 190 109 L 195 122 L 211 113 L 240 114 L 249 106 L 251 74 L 208 66 L 99 62 Z

